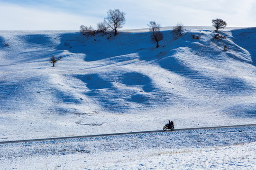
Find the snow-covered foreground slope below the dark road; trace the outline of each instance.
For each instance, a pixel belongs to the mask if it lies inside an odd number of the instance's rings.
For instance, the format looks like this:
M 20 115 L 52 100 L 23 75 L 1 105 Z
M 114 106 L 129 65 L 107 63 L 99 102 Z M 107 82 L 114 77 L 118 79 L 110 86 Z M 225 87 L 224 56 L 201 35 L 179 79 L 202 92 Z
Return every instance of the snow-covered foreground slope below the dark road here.
M 0 145 L 3 170 L 253 169 L 256 127 Z

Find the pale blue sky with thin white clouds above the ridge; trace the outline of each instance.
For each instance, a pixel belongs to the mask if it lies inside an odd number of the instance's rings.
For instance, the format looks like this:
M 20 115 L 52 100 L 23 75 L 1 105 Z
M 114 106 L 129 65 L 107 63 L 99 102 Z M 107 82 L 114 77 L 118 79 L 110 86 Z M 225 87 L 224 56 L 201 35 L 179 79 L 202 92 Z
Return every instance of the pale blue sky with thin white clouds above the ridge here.
M 229 27 L 256 26 L 256 0 L 0 0 L 0 30 L 79 30 L 107 17 L 109 9 L 126 13 L 122 29 L 161 26 L 211 26 L 221 18 Z

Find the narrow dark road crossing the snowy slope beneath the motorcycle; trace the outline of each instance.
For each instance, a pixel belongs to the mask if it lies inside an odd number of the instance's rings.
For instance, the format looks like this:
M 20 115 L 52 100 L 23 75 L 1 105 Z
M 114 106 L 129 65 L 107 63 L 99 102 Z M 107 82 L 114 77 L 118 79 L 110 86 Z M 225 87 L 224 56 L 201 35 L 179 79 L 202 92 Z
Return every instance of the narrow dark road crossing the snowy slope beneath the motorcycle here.
M 219 126 L 219 127 L 193 127 L 193 128 L 175 129 L 174 131 L 215 129 L 215 128 L 229 128 L 229 127 L 253 127 L 253 126 L 256 126 L 256 124 L 248 124 L 248 125 L 230 125 L 230 126 Z M 125 132 L 125 133 L 87 135 L 87 136 L 86 136 L 86 135 L 85 135 L 85 136 L 66 136 L 66 137 L 53 137 L 53 138 L 42 138 L 42 139 L 28 139 L 28 140 L 16 140 L 16 141 L 2 141 L 2 142 L 0 142 L 0 144 L 12 144 L 12 143 L 22 143 L 22 142 L 38 142 L 38 141 L 51 141 L 51 140 L 86 138 L 86 137 L 100 137 L 100 136 L 132 135 L 132 134 L 143 134 L 143 133 L 159 133 L 159 132 L 172 132 L 172 131 L 153 130 L 153 131 Z

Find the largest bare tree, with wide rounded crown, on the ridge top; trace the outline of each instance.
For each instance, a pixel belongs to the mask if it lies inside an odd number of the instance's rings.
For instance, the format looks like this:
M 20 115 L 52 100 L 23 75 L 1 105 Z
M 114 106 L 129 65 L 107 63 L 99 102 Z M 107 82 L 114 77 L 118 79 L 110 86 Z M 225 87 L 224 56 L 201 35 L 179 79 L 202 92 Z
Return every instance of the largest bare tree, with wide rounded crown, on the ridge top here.
M 108 12 L 108 17 L 106 17 L 107 25 L 115 31 L 117 35 L 117 29 L 122 28 L 125 24 L 125 12 L 121 12 L 119 9 L 110 9 Z

